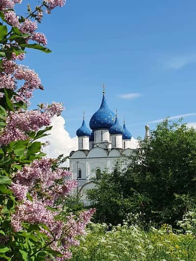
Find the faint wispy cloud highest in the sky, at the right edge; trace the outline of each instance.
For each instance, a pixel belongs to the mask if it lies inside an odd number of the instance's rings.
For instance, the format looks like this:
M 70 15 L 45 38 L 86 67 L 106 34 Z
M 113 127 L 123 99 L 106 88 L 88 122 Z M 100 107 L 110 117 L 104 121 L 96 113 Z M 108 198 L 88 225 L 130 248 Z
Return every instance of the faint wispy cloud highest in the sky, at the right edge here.
M 166 69 L 179 70 L 188 64 L 196 62 L 196 54 L 188 54 L 173 57 L 170 61 L 165 63 Z

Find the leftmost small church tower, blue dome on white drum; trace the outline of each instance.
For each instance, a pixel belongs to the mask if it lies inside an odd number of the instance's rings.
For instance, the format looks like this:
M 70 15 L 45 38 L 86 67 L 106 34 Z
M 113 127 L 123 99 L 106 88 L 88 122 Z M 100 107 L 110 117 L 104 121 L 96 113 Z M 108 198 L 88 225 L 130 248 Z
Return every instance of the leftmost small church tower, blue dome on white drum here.
M 84 114 L 82 126 L 76 131 L 76 135 L 78 137 L 78 149 L 89 150 L 89 137 L 91 136 L 91 131 L 86 126 Z

